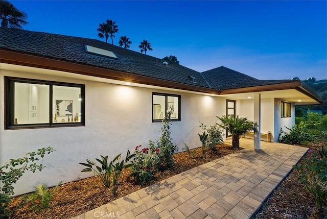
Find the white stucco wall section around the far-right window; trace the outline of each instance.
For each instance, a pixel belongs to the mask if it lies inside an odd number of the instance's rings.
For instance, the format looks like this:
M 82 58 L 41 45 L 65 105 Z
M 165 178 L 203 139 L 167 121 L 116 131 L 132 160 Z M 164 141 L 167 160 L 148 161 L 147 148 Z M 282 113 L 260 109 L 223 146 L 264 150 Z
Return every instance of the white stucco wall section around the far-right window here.
M 283 129 L 283 131 L 285 132 L 289 132 L 287 128 L 292 128 L 295 124 L 295 107 L 294 104 L 291 103 L 291 117 L 286 117 L 286 118 L 282 118 L 281 117 L 281 100 L 278 99 L 274 99 L 274 108 L 275 108 L 275 112 L 274 112 L 274 138 L 276 139 L 275 141 L 278 141 L 278 135 L 281 132 L 281 128 Z

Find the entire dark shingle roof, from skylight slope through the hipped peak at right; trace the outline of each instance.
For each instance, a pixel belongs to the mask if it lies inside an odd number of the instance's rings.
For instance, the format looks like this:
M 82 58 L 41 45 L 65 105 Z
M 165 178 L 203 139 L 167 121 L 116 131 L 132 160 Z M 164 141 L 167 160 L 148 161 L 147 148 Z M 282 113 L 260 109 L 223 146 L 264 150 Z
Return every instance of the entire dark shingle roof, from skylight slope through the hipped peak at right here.
M 111 51 L 118 60 L 86 53 L 85 45 Z M 162 64 L 162 59 L 96 39 L 19 29 L 0 28 L 0 47 L 217 90 L 292 82 L 292 80 L 258 80 L 224 66 L 200 73 L 179 64 L 169 63 L 166 66 Z M 193 80 L 196 83 L 192 82 Z

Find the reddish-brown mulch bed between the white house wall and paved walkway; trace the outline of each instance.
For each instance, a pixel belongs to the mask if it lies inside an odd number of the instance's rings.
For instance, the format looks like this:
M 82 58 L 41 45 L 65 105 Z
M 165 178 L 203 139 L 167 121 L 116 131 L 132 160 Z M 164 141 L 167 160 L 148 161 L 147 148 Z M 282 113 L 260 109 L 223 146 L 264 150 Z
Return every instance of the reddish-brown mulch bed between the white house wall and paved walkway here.
M 202 157 L 201 148 L 191 150 L 191 157 L 187 152 L 174 154 L 174 167 L 157 172 L 154 179 L 144 185 L 135 183 L 133 177 L 130 176 L 130 171 L 126 169 L 120 176 L 119 186 L 115 194 L 102 184 L 99 177 L 65 183 L 57 188 L 50 208 L 42 209 L 41 212 L 33 212 L 30 209 L 31 203 L 27 201 L 29 194 L 15 197 L 9 205 L 10 211 L 13 212 L 10 218 L 72 218 L 148 185 L 235 152 L 226 145 L 217 145 L 216 149 L 216 152 L 207 150 L 204 157 Z

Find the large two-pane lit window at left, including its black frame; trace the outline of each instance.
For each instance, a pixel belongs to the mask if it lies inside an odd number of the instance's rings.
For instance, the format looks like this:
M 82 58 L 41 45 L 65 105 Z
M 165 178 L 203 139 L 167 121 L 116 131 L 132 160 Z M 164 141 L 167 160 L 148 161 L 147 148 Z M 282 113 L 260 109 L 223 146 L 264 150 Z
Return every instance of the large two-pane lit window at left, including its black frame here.
M 6 129 L 84 125 L 84 85 L 6 77 Z

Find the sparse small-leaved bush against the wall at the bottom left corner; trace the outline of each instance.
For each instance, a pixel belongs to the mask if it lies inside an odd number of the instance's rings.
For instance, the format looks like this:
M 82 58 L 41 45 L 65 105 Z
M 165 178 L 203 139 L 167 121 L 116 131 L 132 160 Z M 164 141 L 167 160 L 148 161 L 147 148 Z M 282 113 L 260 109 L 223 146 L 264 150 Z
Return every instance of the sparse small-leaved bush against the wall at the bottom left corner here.
M 37 152 L 27 153 L 26 157 L 10 159 L 5 165 L 0 167 L 0 218 L 6 218 L 9 216 L 7 207 L 11 200 L 11 196 L 14 194 L 13 184 L 26 172 L 31 171 L 35 173 L 36 170 L 42 171 L 45 167 L 42 164 L 37 164 L 39 158 L 43 158 L 45 154 L 50 154 L 55 151 L 53 148 L 41 148 L 37 149 Z M 34 163 L 31 163 L 34 162 Z M 30 164 L 29 164 L 30 163 Z

